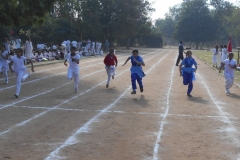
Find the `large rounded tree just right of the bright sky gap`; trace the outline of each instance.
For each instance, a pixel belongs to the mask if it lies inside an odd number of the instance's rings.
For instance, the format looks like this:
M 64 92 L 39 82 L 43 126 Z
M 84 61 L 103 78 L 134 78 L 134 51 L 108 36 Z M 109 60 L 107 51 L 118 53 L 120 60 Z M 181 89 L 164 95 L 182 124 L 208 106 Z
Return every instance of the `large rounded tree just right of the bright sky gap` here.
M 174 37 L 186 42 L 209 42 L 216 38 L 217 22 L 210 16 L 206 0 L 183 2 Z

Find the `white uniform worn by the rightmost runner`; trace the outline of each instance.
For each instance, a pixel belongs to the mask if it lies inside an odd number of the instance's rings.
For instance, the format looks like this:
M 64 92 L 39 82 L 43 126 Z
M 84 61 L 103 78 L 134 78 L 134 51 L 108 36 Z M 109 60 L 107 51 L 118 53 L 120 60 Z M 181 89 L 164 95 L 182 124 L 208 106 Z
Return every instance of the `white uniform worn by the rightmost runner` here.
M 225 88 L 230 89 L 234 84 L 235 70 L 232 69 L 229 66 L 229 64 L 231 66 L 234 66 L 234 65 L 237 65 L 237 62 L 235 59 L 232 59 L 232 60 L 225 59 L 223 63 L 225 64 L 224 65 Z

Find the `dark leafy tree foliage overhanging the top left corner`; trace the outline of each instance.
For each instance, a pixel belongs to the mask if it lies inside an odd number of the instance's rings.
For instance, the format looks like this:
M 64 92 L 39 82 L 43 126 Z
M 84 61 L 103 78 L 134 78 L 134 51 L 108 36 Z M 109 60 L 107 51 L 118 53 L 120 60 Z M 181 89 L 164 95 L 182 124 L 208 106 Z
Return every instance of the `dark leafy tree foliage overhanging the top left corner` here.
M 56 1 L 2 0 L 0 3 L 0 25 L 19 27 L 43 24 L 43 17 L 52 11 Z

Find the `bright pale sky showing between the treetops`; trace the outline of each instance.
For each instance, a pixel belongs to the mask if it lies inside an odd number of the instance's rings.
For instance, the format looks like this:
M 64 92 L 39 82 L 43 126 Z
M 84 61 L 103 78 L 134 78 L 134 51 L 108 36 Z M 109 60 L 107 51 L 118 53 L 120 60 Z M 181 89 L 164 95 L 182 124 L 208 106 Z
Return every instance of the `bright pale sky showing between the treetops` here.
M 158 18 L 164 18 L 165 13 L 168 12 L 169 7 L 174 6 L 175 4 L 182 3 L 182 0 L 148 0 L 153 4 L 153 8 L 156 9 L 154 13 L 152 13 L 152 20 L 156 20 Z M 236 0 L 227 0 L 231 3 L 235 3 Z

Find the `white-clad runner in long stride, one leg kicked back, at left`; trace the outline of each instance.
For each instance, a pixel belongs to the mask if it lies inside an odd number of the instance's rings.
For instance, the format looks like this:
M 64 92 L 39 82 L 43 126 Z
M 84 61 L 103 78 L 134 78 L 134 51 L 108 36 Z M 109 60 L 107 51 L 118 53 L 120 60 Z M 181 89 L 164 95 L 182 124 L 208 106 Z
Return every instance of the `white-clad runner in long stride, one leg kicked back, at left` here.
M 21 90 L 21 84 L 22 81 L 24 81 L 27 77 L 30 76 L 30 73 L 27 72 L 27 68 L 24 66 L 24 61 L 27 60 L 31 63 L 32 65 L 32 72 L 34 72 L 33 69 L 33 63 L 31 59 L 27 59 L 24 56 L 21 56 L 22 52 L 20 49 L 17 49 L 16 55 L 11 57 L 11 62 L 9 63 L 9 69 L 13 73 L 15 72 L 17 75 L 17 89 L 16 93 L 14 96 L 18 98 Z M 12 64 L 13 64 L 13 69 L 12 69 Z

